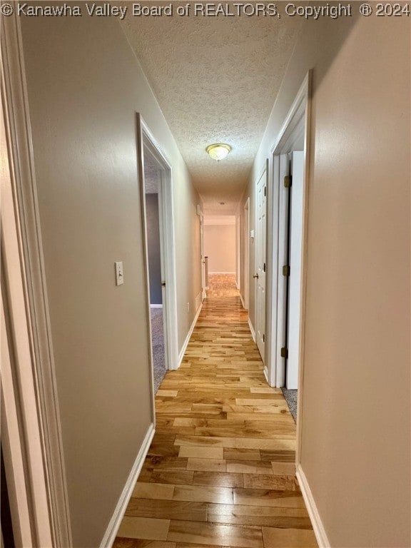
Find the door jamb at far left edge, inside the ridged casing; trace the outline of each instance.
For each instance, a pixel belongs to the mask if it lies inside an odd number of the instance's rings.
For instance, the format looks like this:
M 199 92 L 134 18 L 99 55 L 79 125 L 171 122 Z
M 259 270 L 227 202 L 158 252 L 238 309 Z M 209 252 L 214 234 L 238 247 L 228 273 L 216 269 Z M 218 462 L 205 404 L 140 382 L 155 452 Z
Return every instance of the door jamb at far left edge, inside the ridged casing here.
M 1 446 L 16 546 L 53 546 L 19 218 L 1 110 Z

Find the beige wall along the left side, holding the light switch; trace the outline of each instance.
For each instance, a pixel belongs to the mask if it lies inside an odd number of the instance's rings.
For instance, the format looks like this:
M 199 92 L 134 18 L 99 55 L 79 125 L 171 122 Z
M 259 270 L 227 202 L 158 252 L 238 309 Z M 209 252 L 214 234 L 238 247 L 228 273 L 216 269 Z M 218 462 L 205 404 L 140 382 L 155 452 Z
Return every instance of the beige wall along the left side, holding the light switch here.
M 137 111 L 173 167 L 180 345 L 201 291 L 199 198 L 116 19 L 21 26 L 73 543 L 96 547 L 151 424 Z

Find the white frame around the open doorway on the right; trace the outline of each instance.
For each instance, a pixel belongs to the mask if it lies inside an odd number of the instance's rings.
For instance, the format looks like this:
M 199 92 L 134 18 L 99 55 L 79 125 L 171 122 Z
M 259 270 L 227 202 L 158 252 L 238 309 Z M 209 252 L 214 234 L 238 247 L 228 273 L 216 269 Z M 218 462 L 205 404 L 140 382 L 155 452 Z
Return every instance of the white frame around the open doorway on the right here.
M 304 332 L 305 332 L 305 281 L 307 268 L 307 210 L 308 210 L 308 176 L 309 176 L 309 136 L 310 136 L 310 81 L 309 71 L 304 78 L 303 84 L 290 108 L 287 118 L 278 135 L 278 139 L 271 148 L 272 158 L 272 198 L 269 201 L 269 230 L 270 241 L 268 243 L 268 264 L 271 265 L 270 283 L 268 284 L 268 322 L 270 325 L 270 337 L 268 352 L 270 355 L 270 367 L 268 368 L 268 382 L 270 386 L 281 387 L 284 385 L 284 360 L 278 360 L 281 340 L 278 340 L 280 325 L 285 323 L 283 317 L 283 306 L 278 301 L 280 283 L 282 282 L 283 263 L 279 257 L 283 233 L 280 233 L 278 220 L 280 218 L 280 189 L 283 187 L 283 173 L 285 166 L 280 162 L 280 156 L 293 151 L 296 141 L 301 137 L 304 139 L 304 181 L 303 181 L 303 238 L 302 238 L 302 262 L 301 262 L 301 310 L 300 310 L 300 352 L 299 352 L 299 373 L 298 373 L 298 414 L 297 414 L 297 451 L 296 461 L 300 461 L 300 440 L 301 440 L 301 408 L 303 403 L 303 377 L 304 377 Z M 281 278 L 280 278 L 281 277 Z

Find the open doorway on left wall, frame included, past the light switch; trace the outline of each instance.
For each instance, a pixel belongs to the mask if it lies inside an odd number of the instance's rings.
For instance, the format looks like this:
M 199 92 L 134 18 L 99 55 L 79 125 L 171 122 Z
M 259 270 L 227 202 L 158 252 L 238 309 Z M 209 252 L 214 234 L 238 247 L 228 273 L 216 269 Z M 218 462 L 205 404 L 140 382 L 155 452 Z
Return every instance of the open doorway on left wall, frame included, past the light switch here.
M 153 395 L 166 375 L 176 369 L 176 275 L 173 240 L 171 168 L 138 117 L 139 175 L 146 244 L 146 293 L 150 315 Z

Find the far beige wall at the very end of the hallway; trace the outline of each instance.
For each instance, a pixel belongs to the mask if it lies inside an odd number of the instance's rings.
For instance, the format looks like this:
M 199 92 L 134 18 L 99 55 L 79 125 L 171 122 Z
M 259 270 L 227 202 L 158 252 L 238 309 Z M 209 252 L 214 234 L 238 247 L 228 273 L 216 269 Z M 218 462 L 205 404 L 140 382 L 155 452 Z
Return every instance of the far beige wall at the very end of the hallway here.
M 235 225 L 204 225 L 208 272 L 235 272 Z

